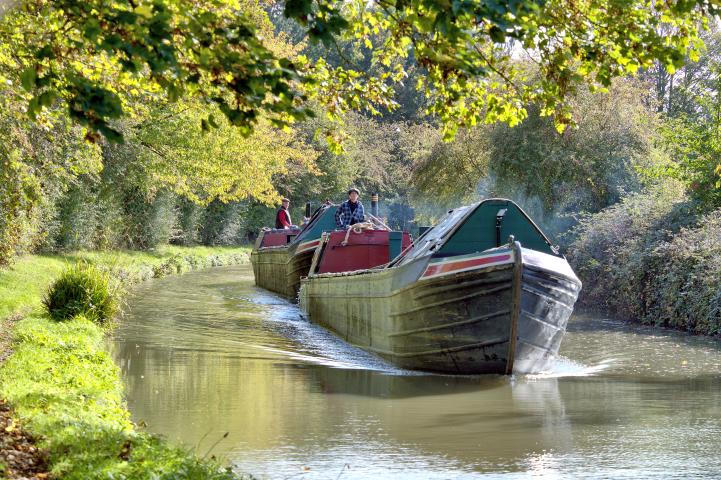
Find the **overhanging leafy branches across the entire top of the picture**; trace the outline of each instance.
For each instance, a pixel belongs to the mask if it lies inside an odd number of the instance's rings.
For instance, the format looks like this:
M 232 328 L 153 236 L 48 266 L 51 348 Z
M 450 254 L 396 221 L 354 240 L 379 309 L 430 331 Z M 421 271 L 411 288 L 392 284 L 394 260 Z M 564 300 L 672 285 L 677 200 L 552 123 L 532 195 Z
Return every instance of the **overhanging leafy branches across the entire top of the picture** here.
M 715 0 L 286 0 L 287 17 L 311 40 L 341 37 L 373 50 L 370 71 L 331 67 L 275 52 L 252 0 L 26 0 L 6 16 L 0 64 L 21 71 L 28 113 L 59 100 L 89 129 L 127 113 L 124 95 L 214 103 L 245 134 L 261 116 L 276 126 L 311 114 L 317 99 L 334 118 L 349 109 L 396 107 L 404 60 L 422 72 L 418 88 L 446 138 L 458 127 L 515 125 L 525 105 L 572 119 L 577 85 L 608 87 L 614 77 L 658 60 L 669 70 L 695 58 L 699 28 Z M 24 28 L 11 28 L 12 26 Z M 9 43 L 8 43 L 9 42 Z M 520 60 L 524 60 L 523 62 Z M 526 68 L 526 63 L 536 66 Z M 206 122 L 203 124 L 208 126 Z

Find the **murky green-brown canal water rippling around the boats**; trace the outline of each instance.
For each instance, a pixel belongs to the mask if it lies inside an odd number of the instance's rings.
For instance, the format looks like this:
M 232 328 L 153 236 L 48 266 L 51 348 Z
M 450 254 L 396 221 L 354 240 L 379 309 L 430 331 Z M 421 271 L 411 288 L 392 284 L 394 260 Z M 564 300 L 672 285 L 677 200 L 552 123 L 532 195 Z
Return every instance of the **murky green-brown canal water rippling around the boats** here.
M 133 419 L 257 478 L 721 478 L 717 341 L 575 316 L 546 374 L 418 374 L 248 266 L 150 281 L 128 310 L 113 351 Z

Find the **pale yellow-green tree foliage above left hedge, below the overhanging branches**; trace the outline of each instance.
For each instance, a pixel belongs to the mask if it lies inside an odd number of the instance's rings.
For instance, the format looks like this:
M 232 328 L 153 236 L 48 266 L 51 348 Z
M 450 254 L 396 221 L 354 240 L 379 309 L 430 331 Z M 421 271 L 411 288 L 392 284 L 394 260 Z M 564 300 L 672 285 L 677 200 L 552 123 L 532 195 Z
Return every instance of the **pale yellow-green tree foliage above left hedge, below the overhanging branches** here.
M 207 116 L 200 104 L 154 112 L 132 129 L 129 142 L 151 183 L 200 204 L 247 198 L 272 204 L 279 198 L 273 177 L 289 164 L 313 172 L 317 157 L 292 130 L 260 121 L 244 136 L 222 115 Z

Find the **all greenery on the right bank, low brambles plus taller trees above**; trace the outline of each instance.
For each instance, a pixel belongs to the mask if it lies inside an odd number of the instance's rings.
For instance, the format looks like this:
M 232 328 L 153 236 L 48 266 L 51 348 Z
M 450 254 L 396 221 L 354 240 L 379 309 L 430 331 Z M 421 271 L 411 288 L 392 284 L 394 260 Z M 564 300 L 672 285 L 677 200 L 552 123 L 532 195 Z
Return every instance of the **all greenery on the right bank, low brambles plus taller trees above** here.
M 587 215 L 567 237 L 587 279 L 583 304 L 625 319 L 693 333 L 721 334 L 719 215 L 721 36 L 705 37 L 698 63 L 657 69 L 655 162 L 620 202 Z

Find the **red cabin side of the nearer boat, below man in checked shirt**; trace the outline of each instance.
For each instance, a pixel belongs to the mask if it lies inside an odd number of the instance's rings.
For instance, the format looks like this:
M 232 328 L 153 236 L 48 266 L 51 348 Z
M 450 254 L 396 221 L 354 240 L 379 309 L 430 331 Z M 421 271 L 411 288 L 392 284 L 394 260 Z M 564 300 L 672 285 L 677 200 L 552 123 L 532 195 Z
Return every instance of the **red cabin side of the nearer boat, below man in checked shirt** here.
M 343 245 L 346 232 L 331 232 L 328 242 L 323 250 L 317 273 L 338 273 L 363 270 L 377 267 L 392 260 L 391 251 L 397 250 L 399 254 L 411 245 L 411 236 L 402 232 L 401 245 L 391 245 L 391 233 L 399 235 L 401 232 L 386 230 L 363 230 L 360 233 L 351 231 L 348 242 Z M 395 257 L 395 255 L 393 255 Z

